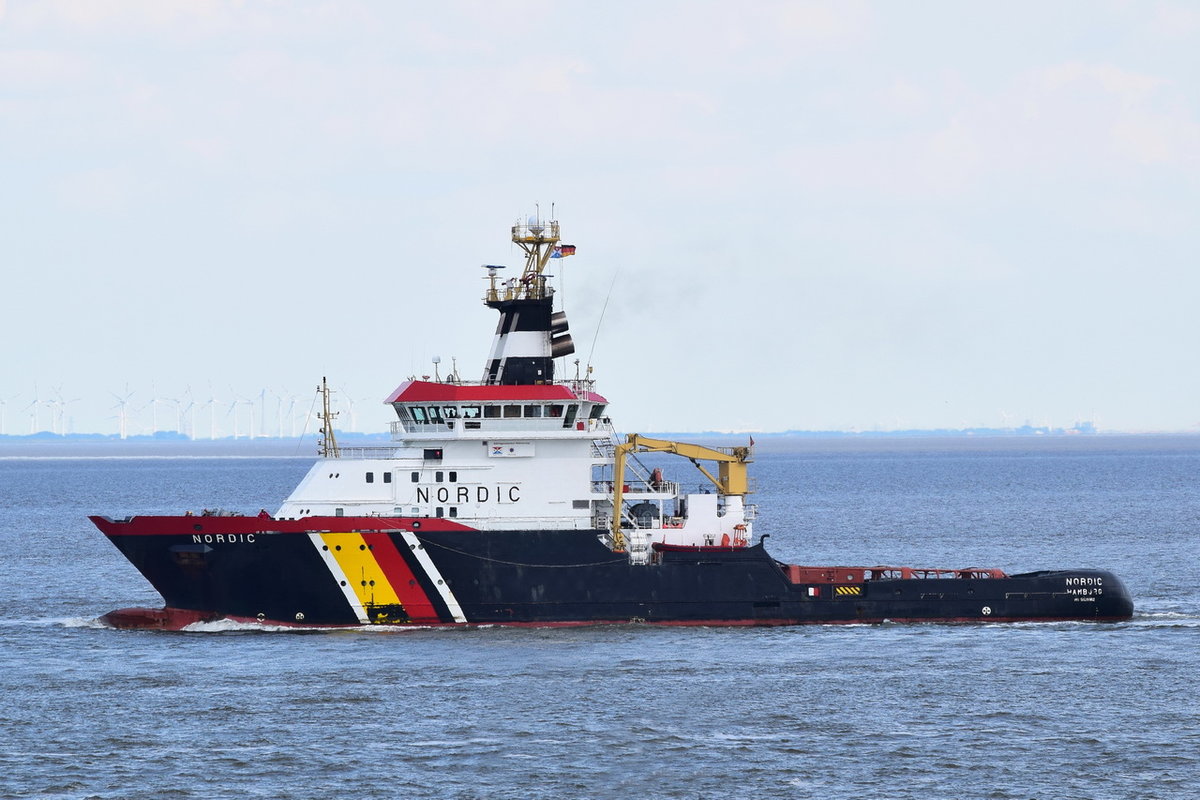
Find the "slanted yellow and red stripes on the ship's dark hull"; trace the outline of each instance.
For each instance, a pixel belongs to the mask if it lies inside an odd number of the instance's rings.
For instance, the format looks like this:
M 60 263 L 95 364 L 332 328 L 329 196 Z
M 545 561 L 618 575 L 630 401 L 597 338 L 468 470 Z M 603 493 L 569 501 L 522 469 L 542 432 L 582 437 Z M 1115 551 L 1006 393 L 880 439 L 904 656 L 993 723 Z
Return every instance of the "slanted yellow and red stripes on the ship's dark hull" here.
M 412 622 L 442 621 L 388 534 L 328 533 L 313 537 L 313 543 L 319 541 L 326 564 L 332 561 L 331 567 L 336 564 L 337 569 L 331 570 L 334 577 L 344 579 L 343 591 L 362 621 L 400 621 L 396 607 L 402 607 Z M 388 610 L 371 613 L 380 607 Z

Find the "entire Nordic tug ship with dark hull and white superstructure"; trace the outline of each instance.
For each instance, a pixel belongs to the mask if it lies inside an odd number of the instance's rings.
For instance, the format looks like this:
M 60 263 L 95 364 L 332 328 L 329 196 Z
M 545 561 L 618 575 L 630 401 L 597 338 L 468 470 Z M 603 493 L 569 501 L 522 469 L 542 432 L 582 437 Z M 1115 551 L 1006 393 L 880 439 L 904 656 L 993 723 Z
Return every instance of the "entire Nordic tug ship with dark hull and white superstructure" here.
M 553 216 L 553 215 L 552 215 Z M 318 457 L 269 513 L 91 522 L 158 594 L 113 627 L 198 622 L 300 627 L 768 626 L 1118 621 L 1133 614 L 1103 570 L 808 566 L 755 536 L 744 446 L 620 435 L 575 345 L 552 264 L 575 246 L 557 219 L 518 219 L 524 264 L 485 265 L 498 312 L 479 380 L 457 366 L 409 377 L 385 403 L 390 438 L 338 445 L 330 390 Z M 514 251 L 517 252 L 517 251 Z M 556 267 L 557 271 L 557 267 Z M 343 437 L 344 440 L 344 437 Z M 665 475 L 686 462 L 695 481 Z

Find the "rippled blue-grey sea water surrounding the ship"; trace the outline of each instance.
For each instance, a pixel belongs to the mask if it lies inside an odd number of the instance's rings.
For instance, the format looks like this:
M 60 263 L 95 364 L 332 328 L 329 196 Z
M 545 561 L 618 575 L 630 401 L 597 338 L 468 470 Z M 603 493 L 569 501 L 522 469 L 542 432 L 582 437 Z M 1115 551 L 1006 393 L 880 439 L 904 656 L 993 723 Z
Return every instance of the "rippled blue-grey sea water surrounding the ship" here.
M 1104 567 L 1126 624 L 94 621 L 161 600 L 86 515 L 275 509 L 310 463 L 0 458 L 0 796 L 1200 796 L 1200 438 L 760 443 L 781 560 Z

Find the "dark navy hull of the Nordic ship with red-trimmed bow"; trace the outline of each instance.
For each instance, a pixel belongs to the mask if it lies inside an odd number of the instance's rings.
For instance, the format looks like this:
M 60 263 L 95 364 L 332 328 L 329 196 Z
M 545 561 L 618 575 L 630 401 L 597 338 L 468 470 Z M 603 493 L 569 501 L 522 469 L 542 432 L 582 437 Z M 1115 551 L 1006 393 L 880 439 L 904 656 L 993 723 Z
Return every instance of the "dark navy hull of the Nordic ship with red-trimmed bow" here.
M 136 517 L 92 522 L 163 596 L 118 627 L 214 619 L 358 625 L 802 625 L 1128 619 L 1109 572 L 869 579 L 750 547 L 676 547 L 631 564 L 600 531 L 479 531 L 443 519 Z M 982 571 L 980 571 L 982 572 Z M 971 573 L 978 576 L 979 572 Z

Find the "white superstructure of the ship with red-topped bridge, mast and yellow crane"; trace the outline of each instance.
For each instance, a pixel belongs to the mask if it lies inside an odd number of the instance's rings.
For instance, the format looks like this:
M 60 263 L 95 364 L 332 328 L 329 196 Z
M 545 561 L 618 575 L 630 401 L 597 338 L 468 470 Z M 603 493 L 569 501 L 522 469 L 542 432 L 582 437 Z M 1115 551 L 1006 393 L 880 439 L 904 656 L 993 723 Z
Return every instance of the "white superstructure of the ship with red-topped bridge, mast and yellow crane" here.
M 750 450 L 618 439 L 593 380 L 554 380 L 554 359 L 574 350 L 544 272 L 560 252 L 558 223 L 518 223 L 512 239 L 527 264 L 508 281 L 499 277 L 503 267 L 487 267 L 485 303 L 500 320 L 484 379 L 451 374 L 401 384 L 385 401 L 397 416 L 394 444 L 385 446 L 338 447 L 326 408 L 324 457 L 276 517 L 437 517 L 479 530 L 596 530 L 614 549 L 628 546 L 637 561 L 652 542 L 746 543 Z M 637 451 L 690 458 L 713 488 L 685 494 L 641 465 Z M 701 461 L 719 462 L 720 476 Z

